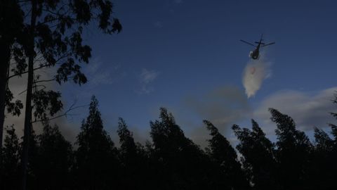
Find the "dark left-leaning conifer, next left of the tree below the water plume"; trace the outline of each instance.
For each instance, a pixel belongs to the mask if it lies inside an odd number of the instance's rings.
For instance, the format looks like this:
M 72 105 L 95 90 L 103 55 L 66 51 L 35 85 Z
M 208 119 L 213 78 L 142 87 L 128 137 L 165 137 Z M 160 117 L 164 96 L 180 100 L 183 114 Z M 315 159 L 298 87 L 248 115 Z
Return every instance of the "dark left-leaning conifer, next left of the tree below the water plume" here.
M 220 175 L 223 179 L 219 181 L 222 182 L 222 188 L 249 189 L 249 182 L 237 160 L 237 152 L 211 122 L 204 120 L 204 124 L 211 135 L 211 139 L 208 140 L 209 155 L 221 170 Z

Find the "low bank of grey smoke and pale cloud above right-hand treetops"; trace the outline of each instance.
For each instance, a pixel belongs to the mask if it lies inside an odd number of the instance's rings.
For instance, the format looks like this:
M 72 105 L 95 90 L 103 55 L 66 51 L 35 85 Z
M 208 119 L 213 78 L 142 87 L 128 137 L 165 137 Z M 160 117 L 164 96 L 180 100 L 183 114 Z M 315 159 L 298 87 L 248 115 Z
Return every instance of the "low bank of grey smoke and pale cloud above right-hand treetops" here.
M 337 123 L 329 114 L 337 113 L 337 105 L 331 101 L 336 91 L 337 87 L 317 91 L 315 94 L 279 91 L 267 96 L 253 109 L 244 91 L 237 87 L 223 87 L 203 96 L 188 97 L 185 99 L 185 106 L 173 113 L 176 113 L 176 121 L 183 127 L 187 136 L 203 147 L 207 144 L 206 139 L 209 139 L 209 132 L 201 123 L 204 119 L 213 122 L 232 143 L 236 138 L 230 127 L 234 123 L 242 125 L 240 127 L 251 127 L 251 119 L 256 120 L 268 137 L 273 139 L 276 125 L 270 120 L 268 108 L 276 108 L 289 115 L 296 122 L 298 129 L 310 132 L 314 126 L 324 128 L 327 127 L 326 123 Z M 189 114 L 192 114 L 192 117 L 188 118 Z

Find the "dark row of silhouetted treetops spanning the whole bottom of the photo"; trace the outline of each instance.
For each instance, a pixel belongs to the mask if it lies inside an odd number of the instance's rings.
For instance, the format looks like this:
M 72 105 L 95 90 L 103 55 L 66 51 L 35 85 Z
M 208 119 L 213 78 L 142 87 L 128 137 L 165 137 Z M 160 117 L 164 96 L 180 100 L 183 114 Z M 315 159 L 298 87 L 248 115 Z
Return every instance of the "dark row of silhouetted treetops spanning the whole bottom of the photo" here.
M 57 125 L 44 122 L 41 134 L 32 129 L 27 189 L 336 189 L 336 125 L 330 124 L 331 135 L 315 128 L 311 142 L 291 117 L 273 108 L 270 113 L 277 125 L 275 143 L 251 120 L 251 128 L 232 126 L 239 141 L 235 151 L 216 126 L 204 120 L 210 138 L 203 150 L 161 108 L 159 120 L 150 122 L 151 141 L 145 146 L 119 118 L 117 147 L 93 97 L 74 146 Z M 5 133 L 0 189 L 18 189 L 22 143 L 13 126 Z

